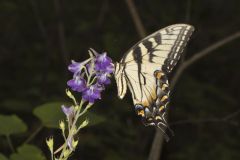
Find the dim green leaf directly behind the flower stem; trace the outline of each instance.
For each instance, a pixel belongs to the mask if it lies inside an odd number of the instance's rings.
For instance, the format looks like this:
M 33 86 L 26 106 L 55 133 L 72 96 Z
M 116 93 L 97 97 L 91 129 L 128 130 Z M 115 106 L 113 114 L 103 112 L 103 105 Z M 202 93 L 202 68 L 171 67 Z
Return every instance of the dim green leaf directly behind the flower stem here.
M 65 102 L 50 102 L 36 107 L 33 114 L 37 116 L 45 127 L 58 128 L 59 121 L 65 119 L 61 105 Z

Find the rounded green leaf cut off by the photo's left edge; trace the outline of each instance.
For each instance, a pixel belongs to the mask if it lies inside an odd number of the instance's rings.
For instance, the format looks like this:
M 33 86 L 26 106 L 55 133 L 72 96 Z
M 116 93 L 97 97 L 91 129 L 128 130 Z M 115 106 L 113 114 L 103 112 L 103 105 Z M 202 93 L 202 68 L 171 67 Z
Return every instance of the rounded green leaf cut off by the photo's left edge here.
M 16 115 L 0 115 L 0 135 L 22 133 L 27 130 L 26 124 Z

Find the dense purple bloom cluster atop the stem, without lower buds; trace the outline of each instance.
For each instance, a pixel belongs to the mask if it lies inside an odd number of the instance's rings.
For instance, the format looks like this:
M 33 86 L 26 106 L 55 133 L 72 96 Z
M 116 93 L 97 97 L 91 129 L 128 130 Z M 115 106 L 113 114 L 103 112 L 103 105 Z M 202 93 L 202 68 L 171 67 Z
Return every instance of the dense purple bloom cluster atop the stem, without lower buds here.
M 97 53 L 90 50 L 91 57 L 83 62 L 72 61 L 68 70 L 73 73 L 73 78 L 67 85 L 73 90 L 82 93 L 85 101 L 94 103 L 101 99 L 104 86 L 110 84 L 110 75 L 114 71 L 114 65 L 107 53 Z

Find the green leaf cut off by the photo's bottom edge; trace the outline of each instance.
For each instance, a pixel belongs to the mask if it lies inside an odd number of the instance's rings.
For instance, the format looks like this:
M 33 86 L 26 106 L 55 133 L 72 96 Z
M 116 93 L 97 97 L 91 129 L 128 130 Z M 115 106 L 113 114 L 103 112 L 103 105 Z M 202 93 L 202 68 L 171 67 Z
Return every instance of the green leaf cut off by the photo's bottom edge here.
M 10 160 L 46 160 L 41 150 L 34 145 L 25 144 L 10 156 Z

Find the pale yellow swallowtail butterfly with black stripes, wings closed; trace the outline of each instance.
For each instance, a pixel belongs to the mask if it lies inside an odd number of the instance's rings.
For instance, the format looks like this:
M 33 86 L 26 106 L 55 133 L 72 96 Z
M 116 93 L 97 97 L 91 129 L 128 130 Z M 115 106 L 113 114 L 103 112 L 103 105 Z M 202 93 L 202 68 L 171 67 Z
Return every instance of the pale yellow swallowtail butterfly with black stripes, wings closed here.
M 143 124 L 165 130 L 170 128 L 165 120 L 169 102 L 168 74 L 179 60 L 194 27 L 174 24 L 147 36 L 115 63 L 115 79 L 119 98 L 131 91 L 135 111 Z M 171 130 L 170 130 L 171 131 Z

